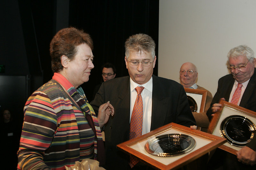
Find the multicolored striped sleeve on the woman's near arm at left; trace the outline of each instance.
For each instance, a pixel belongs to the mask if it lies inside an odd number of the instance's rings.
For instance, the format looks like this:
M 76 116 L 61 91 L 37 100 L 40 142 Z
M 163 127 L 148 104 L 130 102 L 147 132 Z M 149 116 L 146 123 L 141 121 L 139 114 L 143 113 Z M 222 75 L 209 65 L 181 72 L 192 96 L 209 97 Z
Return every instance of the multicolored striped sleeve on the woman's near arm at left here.
M 43 162 L 57 129 L 57 117 L 51 100 L 44 92 L 34 92 L 24 107 L 18 161 L 21 169 L 50 169 Z

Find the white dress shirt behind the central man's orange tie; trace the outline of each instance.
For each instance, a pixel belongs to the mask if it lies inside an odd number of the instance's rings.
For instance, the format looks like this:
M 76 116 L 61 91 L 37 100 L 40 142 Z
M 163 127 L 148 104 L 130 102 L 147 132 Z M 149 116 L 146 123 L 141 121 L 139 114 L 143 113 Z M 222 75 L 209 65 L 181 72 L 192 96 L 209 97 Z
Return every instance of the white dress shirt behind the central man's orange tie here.
M 142 135 L 150 132 L 150 126 L 151 126 L 151 113 L 152 113 L 152 90 L 153 90 L 153 80 L 152 77 L 150 80 L 143 84 L 139 85 L 132 81 L 130 78 L 130 90 L 131 90 L 131 104 L 130 104 L 130 122 L 132 117 L 132 110 L 135 103 L 135 100 L 137 98 L 137 92 L 135 90 L 135 87 L 137 86 L 143 86 L 144 89 L 141 92 L 142 102 L 143 102 L 143 123 L 142 123 Z

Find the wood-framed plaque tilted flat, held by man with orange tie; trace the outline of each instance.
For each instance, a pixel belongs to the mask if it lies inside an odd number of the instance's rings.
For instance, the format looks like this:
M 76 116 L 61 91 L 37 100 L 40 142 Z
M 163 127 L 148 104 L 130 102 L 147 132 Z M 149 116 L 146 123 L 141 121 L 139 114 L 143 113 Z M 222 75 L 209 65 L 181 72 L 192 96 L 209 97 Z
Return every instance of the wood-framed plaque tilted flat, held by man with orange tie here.
M 225 143 L 226 139 L 169 123 L 117 148 L 156 169 L 177 169 Z

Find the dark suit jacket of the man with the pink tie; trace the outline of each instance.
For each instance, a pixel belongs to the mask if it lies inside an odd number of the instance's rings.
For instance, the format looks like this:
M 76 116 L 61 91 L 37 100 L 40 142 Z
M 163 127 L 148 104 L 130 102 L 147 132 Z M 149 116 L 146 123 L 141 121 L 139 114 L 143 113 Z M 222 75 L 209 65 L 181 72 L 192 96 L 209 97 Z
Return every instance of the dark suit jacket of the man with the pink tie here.
M 229 100 L 229 96 L 232 91 L 234 83 L 235 83 L 235 79 L 233 78 L 232 74 L 228 74 L 219 79 L 217 92 L 214 95 L 211 106 L 206 113 L 209 119 L 212 118 L 211 107 L 214 103 L 219 103 L 219 100 L 221 98 L 225 98 L 226 101 Z M 256 69 L 255 68 L 254 68 L 254 73 L 251 79 L 249 80 L 249 83 L 244 91 L 244 94 L 242 96 L 239 106 L 256 112 Z M 254 137 L 252 141 L 249 144 L 247 144 L 247 146 L 252 148 L 254 151 L 256 151 L 256 138 Z

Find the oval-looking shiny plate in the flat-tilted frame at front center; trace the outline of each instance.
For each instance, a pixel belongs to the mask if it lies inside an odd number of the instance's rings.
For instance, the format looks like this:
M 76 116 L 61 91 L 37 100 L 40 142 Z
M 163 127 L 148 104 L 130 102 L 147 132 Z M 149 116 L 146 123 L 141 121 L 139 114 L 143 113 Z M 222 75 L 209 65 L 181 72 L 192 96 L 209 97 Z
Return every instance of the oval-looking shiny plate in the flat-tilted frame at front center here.
M 196 146 L 193 137 L 184 134 L 166 134 L 150 139 L 145 150 L 155 156 L 170 157 L 191 151 Z

